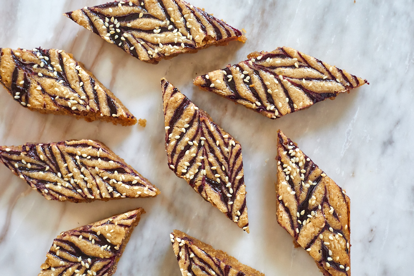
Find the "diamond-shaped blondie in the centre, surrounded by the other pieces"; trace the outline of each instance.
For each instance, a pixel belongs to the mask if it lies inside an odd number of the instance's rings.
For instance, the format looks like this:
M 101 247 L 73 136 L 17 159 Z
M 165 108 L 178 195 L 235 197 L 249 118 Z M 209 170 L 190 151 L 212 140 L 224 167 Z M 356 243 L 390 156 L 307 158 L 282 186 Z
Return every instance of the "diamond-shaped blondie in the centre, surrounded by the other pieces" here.
M 166 79 L 161 87 L 168 166 L 249 233 L 240 143 Z

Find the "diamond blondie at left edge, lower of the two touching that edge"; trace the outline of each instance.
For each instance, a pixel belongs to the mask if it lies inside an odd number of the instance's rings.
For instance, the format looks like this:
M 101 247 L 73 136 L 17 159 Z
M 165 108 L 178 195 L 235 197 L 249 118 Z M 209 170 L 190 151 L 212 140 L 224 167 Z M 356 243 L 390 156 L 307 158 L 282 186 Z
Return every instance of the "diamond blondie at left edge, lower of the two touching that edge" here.
M 49 200 L 89 202 L 159 194 L 157 187 L 99 141 L 0 146 L 0 160 Z

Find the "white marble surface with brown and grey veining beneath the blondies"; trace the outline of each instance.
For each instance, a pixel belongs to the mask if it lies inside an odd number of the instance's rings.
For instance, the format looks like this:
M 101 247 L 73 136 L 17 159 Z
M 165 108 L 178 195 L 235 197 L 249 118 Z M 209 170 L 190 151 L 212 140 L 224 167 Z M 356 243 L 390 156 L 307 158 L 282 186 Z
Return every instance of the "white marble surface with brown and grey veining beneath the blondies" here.
M 149 65 L 106 43 L 63 12 L 100 0 L 0 2 L 0 47 L 73 53 L 145 128 L 88 123 L 25 110 L 0 88 L 0 144 L 99 139 L 161 190 L 156 198 L 74 204 L 50 202 L 0 166 L 1 275 L 37 275 L 53 238 L 138 206 L 117 276 L 181 275 L 168 233 L 183 230 L 267 276 L 322 275 L 295 249 L 275 217 L 275 135 L 280 128 L 351 198 L 354 275 L 412 275 L 414 254 L 414 4 L 412 1 L 193 0 L 248 41 Z M 193 86 L 197 75 L 289 46 L 366 78 L 370 85 L 269 120 Z M 159 80 L 166 77 L 243 146 L 250 234 L 201 199 L 168 169 Z

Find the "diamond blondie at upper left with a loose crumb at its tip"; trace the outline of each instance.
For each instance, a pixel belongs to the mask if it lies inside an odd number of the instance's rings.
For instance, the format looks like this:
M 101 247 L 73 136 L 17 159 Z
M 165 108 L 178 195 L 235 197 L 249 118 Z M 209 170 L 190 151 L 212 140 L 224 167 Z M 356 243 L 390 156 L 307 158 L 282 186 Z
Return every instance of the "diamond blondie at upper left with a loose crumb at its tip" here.
M 74 115 L 88 122 L 137 122 L 109 89 L 63 50 L 0 48 L 0 82 L 32 111 Z

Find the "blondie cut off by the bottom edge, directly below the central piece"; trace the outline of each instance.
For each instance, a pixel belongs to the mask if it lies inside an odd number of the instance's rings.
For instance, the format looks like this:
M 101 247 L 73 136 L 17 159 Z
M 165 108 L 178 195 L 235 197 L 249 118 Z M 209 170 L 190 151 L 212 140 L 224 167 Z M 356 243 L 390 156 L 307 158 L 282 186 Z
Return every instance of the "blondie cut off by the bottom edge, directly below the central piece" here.
M 183 276 L 265 276 L 179 230 L 174 230 L 170 238 Z

